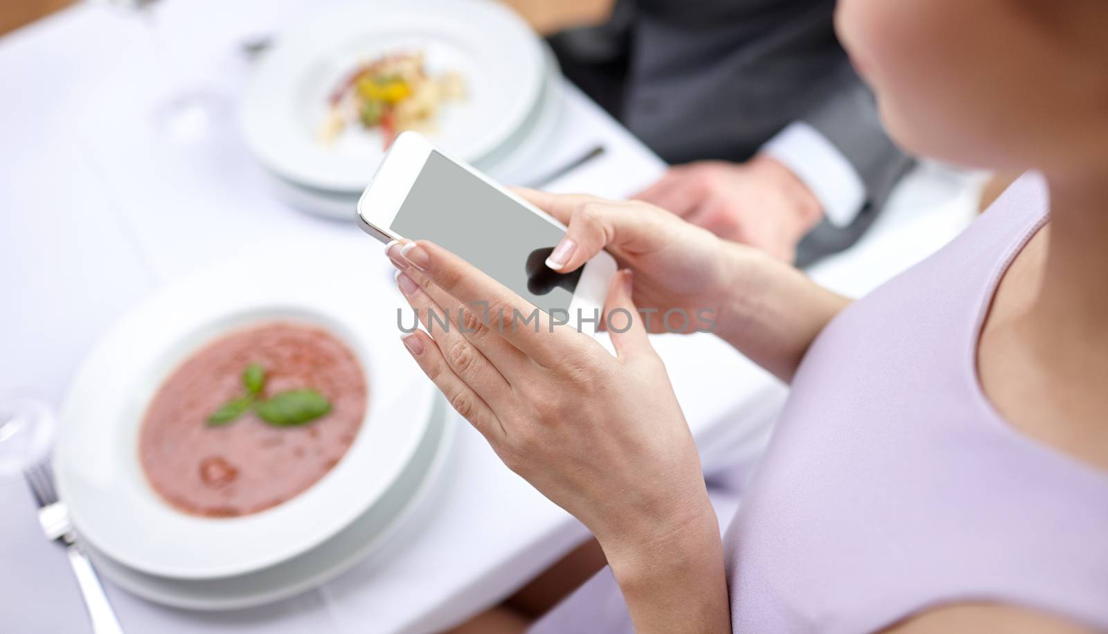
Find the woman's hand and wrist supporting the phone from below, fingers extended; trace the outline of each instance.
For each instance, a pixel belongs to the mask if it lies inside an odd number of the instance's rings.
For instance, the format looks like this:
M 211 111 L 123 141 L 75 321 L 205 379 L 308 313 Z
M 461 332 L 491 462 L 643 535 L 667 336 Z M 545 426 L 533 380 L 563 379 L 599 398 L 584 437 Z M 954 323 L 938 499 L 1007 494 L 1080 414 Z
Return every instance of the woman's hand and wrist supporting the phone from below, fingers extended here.
M 630 273 L 616 276 L 604 310 L 636 315 L 613 330 L 613 357 L 586 335 L 552 327 L 545 313 L 537 331 L 513 328 L 510 316 L 533 307 L 438 245 L 398 243 L 388 255 L 433 335 L 406 335 L 408 350 L 505 464 L 593 531 L 636 628 L 728 631 L 718 524 L 632 303 Z

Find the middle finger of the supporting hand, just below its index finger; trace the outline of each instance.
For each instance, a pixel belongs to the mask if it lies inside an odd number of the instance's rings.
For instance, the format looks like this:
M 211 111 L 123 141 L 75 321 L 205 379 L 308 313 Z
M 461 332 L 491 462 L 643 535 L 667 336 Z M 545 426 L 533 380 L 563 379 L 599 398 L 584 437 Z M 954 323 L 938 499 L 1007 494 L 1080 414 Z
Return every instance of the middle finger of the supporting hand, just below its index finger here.
M 386 252 L 389 259 L 392 260 L 392 264 L 397 268 L 414 279 L 420 288 L 431 297 L 431 300 L 445 311 L 447 319 L 440 320 L 437 326 L 441 329 L 441 323 L 444 321 L 450 328 L 454 328 L 461 333 L 463 337 L 473 344 L 496 367 L 501 376 L 511 385 L 512 377 L 522 376 L 523 366 L 530 362 L 526 356 L 494 333 L 489 331 L 489 319 L 488 315 L 485 315 L 484 306 L 465 306 L 432 284 L 425 275 L 410 266 L 403 256 L 400 255 L 400 249 L 410 242 L 400 241 L 389 245 Z M 423 327 L 428 327 L 428 324 L 423 323 Z

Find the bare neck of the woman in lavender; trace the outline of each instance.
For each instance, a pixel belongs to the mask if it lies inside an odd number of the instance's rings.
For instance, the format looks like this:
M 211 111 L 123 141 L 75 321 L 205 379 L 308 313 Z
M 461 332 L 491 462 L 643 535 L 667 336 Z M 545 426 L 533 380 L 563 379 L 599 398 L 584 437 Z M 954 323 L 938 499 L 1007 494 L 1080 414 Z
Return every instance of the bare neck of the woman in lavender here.
M 1108 369 L 1108 167 L 1047 182 L 1046 263 L 1024 331 L 1055 360 L 1085 366 L 1095 356 Z

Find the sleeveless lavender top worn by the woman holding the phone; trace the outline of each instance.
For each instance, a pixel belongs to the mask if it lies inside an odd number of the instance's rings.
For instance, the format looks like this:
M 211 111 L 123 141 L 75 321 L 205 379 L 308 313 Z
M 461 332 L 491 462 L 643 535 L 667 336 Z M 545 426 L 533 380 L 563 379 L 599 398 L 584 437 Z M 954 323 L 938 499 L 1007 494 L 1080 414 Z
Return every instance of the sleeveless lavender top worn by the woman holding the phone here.
M 1024 175 L 817 338 L 724 538 L 735 632 L 873 632 L 965 601 L 1108 630 L 1108 472 L 1023 436 L 977 381 L 988 304 L 1047 206 Z M 605 570 L 532 632 L 630 621 Z

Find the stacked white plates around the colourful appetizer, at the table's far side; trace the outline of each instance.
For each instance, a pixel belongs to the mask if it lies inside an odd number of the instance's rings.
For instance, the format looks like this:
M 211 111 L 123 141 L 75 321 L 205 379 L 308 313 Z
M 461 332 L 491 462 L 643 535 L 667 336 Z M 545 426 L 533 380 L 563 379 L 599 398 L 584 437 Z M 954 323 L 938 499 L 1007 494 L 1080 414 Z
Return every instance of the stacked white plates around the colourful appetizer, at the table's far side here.
M 255 70 L 239 119 L 250 152 L 294 206 L 349 219 L 384 155 L 378 132 L 320 140 L 328 95 L 359 62 L 422 52 L 430 73 L 456 72 L 464 99 L 442 106 L 438 145 L 494 177 L 511 176 L 552 133 L 557 62 L 523 20 L 492 0 L 353 3 L 283 34 Z

